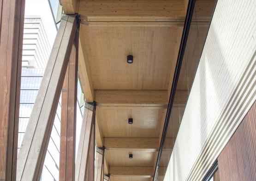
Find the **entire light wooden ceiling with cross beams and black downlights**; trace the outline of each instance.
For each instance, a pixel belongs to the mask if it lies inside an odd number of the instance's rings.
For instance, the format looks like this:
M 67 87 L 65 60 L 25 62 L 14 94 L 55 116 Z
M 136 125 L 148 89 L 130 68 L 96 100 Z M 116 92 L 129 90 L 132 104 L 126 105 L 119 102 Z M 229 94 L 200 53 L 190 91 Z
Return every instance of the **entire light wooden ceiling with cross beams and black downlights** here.
M 207 6 L 209 0 L 201 1 Z M 152 181 L 188 0 L 61 2 L 65 13 L 81 17 L 79 79 L 85 100 L 97 102 L 96 144 L 107 147 L 104 173 L 111 181 Z M 132 64 L 127 55 L 134 56 Z M 185 85 L 177 94 L 175 111 L 184 110 Z M 173 116 L 169 129 L 171 152 L 179 118 Z

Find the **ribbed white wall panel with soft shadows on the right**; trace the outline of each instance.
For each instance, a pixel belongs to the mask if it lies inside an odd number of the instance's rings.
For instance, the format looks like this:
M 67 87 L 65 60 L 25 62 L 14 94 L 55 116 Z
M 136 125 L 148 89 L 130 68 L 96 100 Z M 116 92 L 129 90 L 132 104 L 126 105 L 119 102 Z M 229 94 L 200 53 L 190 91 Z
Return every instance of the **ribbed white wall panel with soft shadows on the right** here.
M 164 181 L 200 181 L 256 100 L 256 0 L 218 0 Z

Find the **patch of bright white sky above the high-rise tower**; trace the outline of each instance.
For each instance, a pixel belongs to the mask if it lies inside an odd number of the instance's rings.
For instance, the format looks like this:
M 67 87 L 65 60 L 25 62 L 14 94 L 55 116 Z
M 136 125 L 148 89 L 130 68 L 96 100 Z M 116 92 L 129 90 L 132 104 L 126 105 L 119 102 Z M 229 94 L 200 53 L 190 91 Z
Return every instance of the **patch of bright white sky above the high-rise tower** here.
M 57 30 L 48 3 L 48 0 L 26 0 L 25 16 L 40 16 L 50 45 L 52 46 L 56 37 Z

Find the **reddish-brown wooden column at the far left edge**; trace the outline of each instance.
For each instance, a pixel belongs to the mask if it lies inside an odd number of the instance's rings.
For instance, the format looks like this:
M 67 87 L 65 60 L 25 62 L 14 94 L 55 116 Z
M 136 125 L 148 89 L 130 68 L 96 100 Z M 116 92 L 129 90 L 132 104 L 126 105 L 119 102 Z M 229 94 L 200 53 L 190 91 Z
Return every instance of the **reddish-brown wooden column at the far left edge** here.
M 0 181 L 16 180 L 24 8 L 0 1 Z

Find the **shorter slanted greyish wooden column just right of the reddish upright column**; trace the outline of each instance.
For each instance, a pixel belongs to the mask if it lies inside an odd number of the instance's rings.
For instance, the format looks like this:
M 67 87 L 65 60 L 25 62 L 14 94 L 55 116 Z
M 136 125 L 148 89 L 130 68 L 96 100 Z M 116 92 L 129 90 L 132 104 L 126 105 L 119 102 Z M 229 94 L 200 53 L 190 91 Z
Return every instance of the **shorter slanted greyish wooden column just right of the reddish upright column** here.
M 95 109 L 95 104 L 84 109 L 77 150 L 76 181 L 94 181 Z

